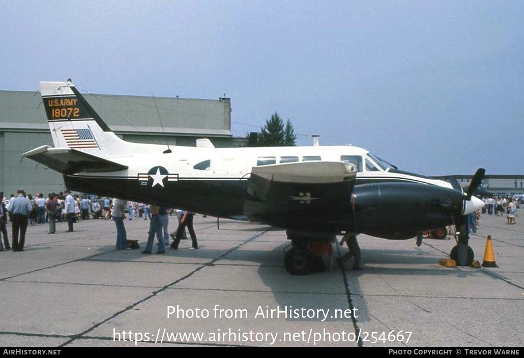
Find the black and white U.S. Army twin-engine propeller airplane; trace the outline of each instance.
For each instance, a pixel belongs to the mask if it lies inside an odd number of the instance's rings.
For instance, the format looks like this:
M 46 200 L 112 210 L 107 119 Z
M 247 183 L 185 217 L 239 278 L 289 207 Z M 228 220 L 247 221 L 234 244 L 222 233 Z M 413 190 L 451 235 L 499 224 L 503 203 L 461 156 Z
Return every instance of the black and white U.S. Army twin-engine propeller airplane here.
M 403 172 L 352 146 L 215 149 L 203 139 L 165 151 L 118 138 L 70 80 L 40 82 L 40 93 L 54 148 L 23 155 L 60 172 L 69 189 L 287 229 L 291 274 L 311 271 L 313 241 L 344 234 L 359 267 L 359 233 L 404 240 L 454 223 L 452 258 L 473 260 L 463 218 L 484 205 L 472 196 L 483 169 L 464 193 L 454 178 Z

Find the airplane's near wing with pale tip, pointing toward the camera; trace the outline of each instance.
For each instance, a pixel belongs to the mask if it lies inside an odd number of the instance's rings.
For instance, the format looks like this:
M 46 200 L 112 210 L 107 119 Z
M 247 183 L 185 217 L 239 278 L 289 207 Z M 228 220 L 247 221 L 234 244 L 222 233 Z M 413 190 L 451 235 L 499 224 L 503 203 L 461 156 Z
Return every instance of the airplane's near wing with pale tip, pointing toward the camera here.
M 326 215 L 337 220 L 351 210 L 356 173 L 353 165 L 344 162 L 253 167 L 244 214 L 281 227 L 304 228 Z

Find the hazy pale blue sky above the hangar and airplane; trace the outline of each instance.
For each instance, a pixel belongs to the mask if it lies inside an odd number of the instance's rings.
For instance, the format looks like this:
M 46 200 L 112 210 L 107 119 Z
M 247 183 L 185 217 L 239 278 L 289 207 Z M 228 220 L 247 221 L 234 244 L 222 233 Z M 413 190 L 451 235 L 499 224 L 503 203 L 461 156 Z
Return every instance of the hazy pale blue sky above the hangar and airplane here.
M 524 174 L 524 1 L 0 0 L 0 90 L 231 97 L 309 145 L 422 174 Z M 35 147 L 38 143 L 35 143 Z

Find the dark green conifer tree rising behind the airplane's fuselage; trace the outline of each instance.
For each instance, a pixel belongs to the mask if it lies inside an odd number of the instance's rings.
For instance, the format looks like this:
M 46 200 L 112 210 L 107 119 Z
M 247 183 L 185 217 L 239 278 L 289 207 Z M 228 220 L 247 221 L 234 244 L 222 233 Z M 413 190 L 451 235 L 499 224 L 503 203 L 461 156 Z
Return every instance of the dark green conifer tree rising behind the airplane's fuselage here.
M 248 139 L 248 147 L 286 147 L 294 146 L 296 144 L 297 136 L 294 133 L 293 125 L 289 118 L 286 125 L 277 112 L 271 115 L 271 119 L 266 121 L 266 125 L 260 128 L 257 133 L 258 138 L 252 133 L 246 136 Z

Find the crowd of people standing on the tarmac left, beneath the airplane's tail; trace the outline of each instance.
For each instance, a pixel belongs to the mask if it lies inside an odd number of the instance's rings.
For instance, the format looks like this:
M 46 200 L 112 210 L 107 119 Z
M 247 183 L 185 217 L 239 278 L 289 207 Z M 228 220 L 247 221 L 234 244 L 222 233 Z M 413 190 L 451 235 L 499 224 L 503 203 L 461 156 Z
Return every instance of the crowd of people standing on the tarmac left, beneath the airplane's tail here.
M 169 216 L 177 215 L 178 229 L 169 233 Z M 193 228 L 193 212 L 176 210 L 156 205 L 128 202 L 117 198 L 89 197 L 88 195 L 72 194 L 68 191 L 58 194 L 48 194 L 47 198 L 42 193 L 35 197 L 26 194 L 23 189 L 17 191 L 10 198 L 4 197 L 0 192 L 0 251 L 11 250 L 24 251 L 25 235 L 27 226 L 49 224 L 49 232 L 56 232 L 56 222 L 68 223 L 66 232 L 74 231 L 74 223 L 80 220 L 104 219 L 113 220 L 117 229 L 116 249 L 138 248 L 127 240 L 124 220 L 141 219 L 150 220 L 148 240 L 144 254 L 152 252 L 155 234 L 158 240 L 157 253 L 165 252 L 166 245 L 169 245 L 169 238 L 172 238 L 171 249 L 177 250 L 181 239 L 185 239 L 185 229 L 189 230 L 192 246 L 191 249 L 198 249 L 196 234 Z M 12 242 L 9 244 L 6 224 L 12 223 Z M 133 241 L 133 240 L 131 240 Z

